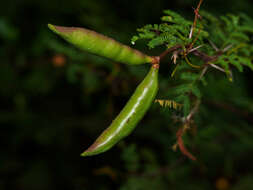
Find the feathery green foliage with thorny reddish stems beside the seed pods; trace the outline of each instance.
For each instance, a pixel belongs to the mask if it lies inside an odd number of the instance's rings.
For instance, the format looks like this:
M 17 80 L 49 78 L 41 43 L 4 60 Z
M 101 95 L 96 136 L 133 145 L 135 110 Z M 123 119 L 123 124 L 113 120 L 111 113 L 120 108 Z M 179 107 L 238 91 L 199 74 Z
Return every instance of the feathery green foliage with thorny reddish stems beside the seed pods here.
M 172 119 L 177 118 L 182 130 L 178 130 L 177 143 L 173 147 L 179 147 L 183 154 L 194 160 L 184 146 L 182 135 L 194 124 L 193 116 L 202 102 L 202 89 L 208 88 L 207 71 L 225 73 L 229 81 L 233 81 L 233 67 L 240 72 L 244 67 L 253 70 L 253 20 L 245 14 L 216 17 L 205 11 L 199 12 L 201 3 L 194 10 L 193 22 L 165 10 L 161 24 L 139 28 L 138 35 L 132 38 L 132 44 L 146 40 L 150 49 L 165 47 L 161 59 L 171 54 L 171 77 L 174 80 L 170 82 L 174 87 L 165 94 L 167 101 L 158 99 L 156 102 L 177 110 Z

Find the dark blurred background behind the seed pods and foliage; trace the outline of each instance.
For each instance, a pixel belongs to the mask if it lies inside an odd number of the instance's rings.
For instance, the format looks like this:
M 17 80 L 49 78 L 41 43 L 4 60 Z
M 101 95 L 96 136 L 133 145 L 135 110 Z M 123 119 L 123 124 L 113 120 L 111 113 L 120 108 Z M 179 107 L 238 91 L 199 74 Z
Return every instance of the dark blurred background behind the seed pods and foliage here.
M 172 9 L 193 19 L 193 0 L 11 0 L 0 6 L 0 189 L 253 189 L 252 71 L 234 82 L 210 73 L 196 134 L 185 137 L 193 162 L 171 147 L 169 111 L 151 110 L 110 151 L 80 157 L 110 124 L 147 72 L 81 52 L 48 23 L 91 28 L 130 45 L 136 28 Z M 250 0 L 206 0 L 216 15 L 244 12 Z M 136 47 L 151 55 L 138 42 Z M 166 63 L 164 63 L 166 64 Z M 169 70 L 160 82 L 169 87 Z M 159 98 L 164 98 L 162 92 Z

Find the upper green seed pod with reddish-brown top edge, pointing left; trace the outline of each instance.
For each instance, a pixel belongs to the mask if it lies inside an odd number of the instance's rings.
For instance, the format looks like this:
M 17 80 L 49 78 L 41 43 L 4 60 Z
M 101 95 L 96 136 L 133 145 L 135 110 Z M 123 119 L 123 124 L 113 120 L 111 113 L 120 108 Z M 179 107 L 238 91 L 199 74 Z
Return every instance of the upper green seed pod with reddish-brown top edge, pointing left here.
M 112 38 L 85 28 L 62 27 L 48 24 L 48 27 L 66 41 L 82 50 L 126 64 L 151 63 L 153 58 L 123 45 Z

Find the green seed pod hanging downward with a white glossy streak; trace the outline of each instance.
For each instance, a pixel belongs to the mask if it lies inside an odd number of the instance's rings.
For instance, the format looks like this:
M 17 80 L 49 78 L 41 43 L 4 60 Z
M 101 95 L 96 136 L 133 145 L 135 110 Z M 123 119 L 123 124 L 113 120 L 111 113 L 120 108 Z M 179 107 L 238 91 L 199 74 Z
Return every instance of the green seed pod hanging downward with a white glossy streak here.
M 158 70 L 159 65 L 151 67 L 116 119 L 81 156 L 92 156 L 105 152 L 134 130 L 156 96 Z

